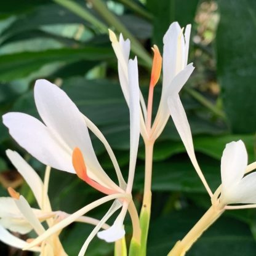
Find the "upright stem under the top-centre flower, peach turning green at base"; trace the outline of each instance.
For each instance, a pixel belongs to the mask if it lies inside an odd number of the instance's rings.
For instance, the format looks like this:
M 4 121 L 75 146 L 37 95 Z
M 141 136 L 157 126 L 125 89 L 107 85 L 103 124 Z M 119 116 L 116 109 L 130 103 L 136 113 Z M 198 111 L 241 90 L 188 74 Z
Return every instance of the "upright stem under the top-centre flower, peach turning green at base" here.
M 140 228 L 142 230 L 140 256 L 146 255 L 146 242 L 148 240 L 148 229 L 150 227 L 153 148 L 154 141 L 145 141 L 145 184 L 142 210 L 140 211 Z

